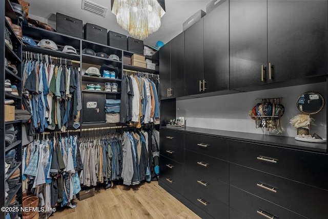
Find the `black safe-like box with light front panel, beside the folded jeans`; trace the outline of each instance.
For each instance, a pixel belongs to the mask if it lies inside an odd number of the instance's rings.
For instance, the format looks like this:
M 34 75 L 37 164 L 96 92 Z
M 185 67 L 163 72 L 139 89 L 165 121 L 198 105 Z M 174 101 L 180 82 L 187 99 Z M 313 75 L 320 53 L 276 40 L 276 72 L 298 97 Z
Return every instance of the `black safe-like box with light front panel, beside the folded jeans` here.
M 105 123 L 105 94 L 83 93 L 82 122 Z

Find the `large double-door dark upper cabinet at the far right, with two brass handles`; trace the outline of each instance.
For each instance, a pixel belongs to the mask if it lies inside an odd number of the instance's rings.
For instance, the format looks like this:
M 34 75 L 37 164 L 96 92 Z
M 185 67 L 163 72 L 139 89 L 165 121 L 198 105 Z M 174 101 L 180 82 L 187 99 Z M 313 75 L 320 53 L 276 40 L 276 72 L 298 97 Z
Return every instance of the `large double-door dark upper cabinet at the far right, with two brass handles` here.
M 327 29 L 327 1 L 230 1 L 230 89 L 326 74 Z

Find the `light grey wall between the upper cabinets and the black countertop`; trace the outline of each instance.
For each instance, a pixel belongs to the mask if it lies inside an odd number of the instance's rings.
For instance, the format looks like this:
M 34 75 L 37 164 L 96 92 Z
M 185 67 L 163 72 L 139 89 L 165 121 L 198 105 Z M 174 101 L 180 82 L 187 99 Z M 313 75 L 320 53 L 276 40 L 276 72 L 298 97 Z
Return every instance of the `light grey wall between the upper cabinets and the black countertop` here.
M 186 126 L 249 133 L 276 134 L 255 127 L 255 121 L 249 116 L 249 110 L 259 101 L 256 98 L 282 97 L 285 108 L 281 117 L 282 135 L 295 136 L 296 129 L 289 123 L 290 119 L 301 112 L 296 100 L 307 91 L 320 93 L 326 101 L 326 83 L 308 84 L 293 87 L 244 92 L 211 97 L 179 100 L 176 102 L 176 116 L 184 116 Z M 311 126 L 311 133 L 326 138 L 326 106 L 312 116 L 316 126 Z

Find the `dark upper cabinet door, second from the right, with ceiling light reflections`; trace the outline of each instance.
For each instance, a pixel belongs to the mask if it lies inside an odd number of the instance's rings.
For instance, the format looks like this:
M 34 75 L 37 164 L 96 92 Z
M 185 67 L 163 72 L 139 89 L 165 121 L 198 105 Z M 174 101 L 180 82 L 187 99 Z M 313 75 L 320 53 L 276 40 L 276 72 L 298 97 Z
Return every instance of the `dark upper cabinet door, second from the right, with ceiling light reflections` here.
M 230 1 L 230 89 L 264 84 L 262 65 L 267 65 L 267 1 Z

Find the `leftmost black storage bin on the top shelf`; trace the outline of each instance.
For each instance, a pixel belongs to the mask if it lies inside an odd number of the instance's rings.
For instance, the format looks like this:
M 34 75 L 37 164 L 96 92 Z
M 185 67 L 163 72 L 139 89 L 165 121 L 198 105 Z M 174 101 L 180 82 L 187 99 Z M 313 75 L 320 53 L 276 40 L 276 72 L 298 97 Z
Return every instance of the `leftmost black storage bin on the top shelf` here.
M 74 17 L 56 13 L 56 31 L 77 38 L 83 38 L 83 22 Z

